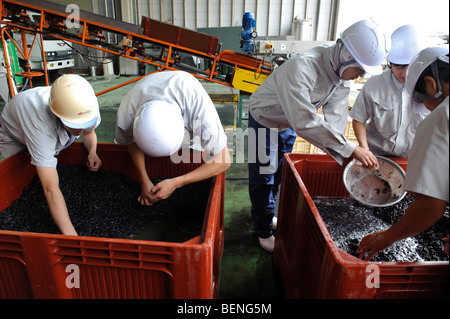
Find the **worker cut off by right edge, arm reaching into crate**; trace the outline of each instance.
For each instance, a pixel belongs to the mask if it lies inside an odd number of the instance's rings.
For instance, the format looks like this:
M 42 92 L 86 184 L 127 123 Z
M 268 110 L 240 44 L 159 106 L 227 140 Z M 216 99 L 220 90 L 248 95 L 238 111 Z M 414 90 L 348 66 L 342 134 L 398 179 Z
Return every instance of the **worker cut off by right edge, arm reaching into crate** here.
M 365 260 L 428 229 L 442 218 L 449 202 L 448 48 L 422 50 L 409 65 L 406 88 L 413 105 L 431 111 L 417 128 L 408 159 L 404 189 L 415 199 L 399 222 L 361 240 L 358 253 Z M 443 240 L 448 241 L 448 236 Z

